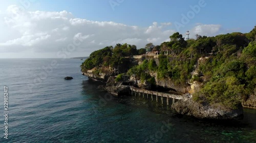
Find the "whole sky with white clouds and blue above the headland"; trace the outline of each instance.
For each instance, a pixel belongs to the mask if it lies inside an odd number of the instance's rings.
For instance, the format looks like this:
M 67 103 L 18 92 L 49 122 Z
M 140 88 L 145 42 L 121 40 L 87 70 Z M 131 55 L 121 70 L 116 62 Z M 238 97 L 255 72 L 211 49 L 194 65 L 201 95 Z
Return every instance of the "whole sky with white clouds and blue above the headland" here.
M 139 49 L 175 32 L 248 33 L 255 6 L 253 0 L 0 0 L 0 58 L 89 56 L 117 43 Z

